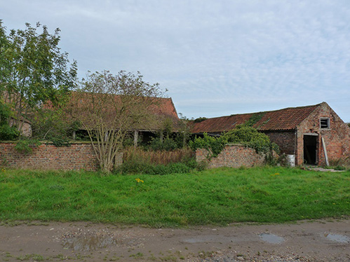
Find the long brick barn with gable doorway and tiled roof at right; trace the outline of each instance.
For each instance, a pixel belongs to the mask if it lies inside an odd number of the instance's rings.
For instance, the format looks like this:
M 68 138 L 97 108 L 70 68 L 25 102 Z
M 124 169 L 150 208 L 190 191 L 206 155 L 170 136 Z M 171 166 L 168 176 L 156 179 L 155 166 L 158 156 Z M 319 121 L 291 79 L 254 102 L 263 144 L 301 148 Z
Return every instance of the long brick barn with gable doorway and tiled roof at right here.
M 350 156 L 350 128 L 325 102 L 208 118 L 194 123 L 191 132 L 219 136 L 247 122 L 268 135 L 295 165 L 326 165 L 330 160 Z

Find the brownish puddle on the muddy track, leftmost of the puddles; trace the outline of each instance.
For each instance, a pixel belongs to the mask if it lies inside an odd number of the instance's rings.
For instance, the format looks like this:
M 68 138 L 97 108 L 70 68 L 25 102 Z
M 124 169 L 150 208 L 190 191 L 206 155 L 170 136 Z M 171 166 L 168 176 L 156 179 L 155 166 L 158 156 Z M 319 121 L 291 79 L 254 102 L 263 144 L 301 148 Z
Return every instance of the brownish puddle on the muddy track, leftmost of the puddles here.
M 116 244 L 116 239 L 109 235 L 78 235 L 63 240 L 63 247 L 75 251 L 93 251 Z

